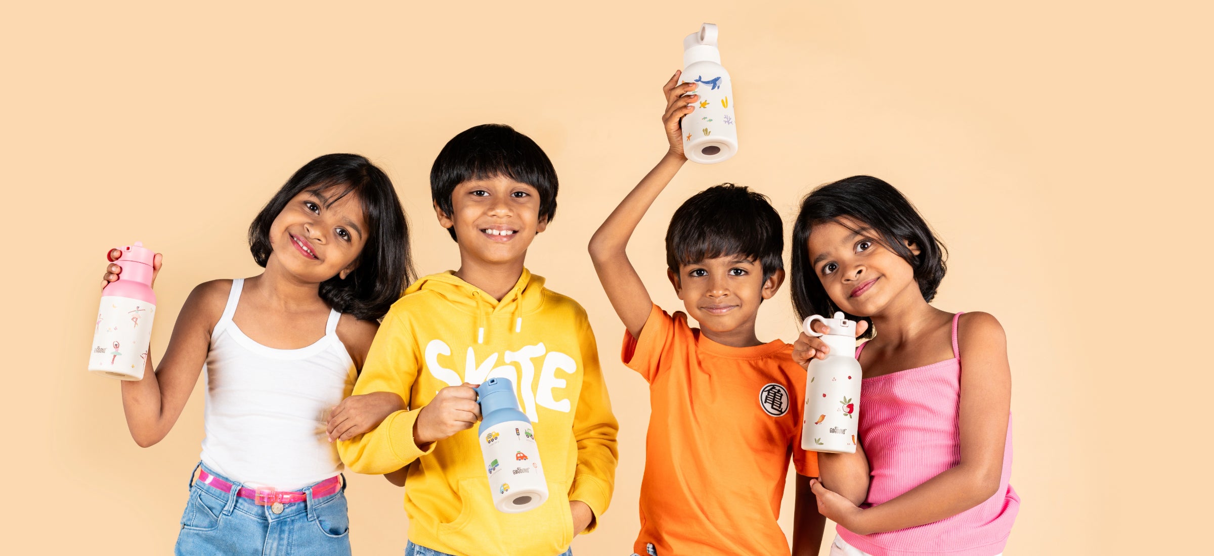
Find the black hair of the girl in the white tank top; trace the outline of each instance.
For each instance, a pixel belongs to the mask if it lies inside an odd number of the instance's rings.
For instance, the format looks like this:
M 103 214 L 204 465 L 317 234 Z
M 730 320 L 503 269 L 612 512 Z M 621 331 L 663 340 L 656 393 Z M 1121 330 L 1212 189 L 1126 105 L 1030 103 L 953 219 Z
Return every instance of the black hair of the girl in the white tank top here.
M 287 204 L 305 191 L 320 193 L 333 188 L 342 191 L 328 195 L 329 204 L 348 194 L 358 197 L 367 219 L 367 243 L 353 272 L 345 279 L 335 276 L 320 283 L 320 299 L 354 318 L 379 319 L 401 297 L 415 273 L 401 199 L 384 170 L 370 160 L 357 154 L 325 154 L 296 170 L 249 226 L 249 250 L 253 260 L 265 267 L 272 250 L 270 226 Z

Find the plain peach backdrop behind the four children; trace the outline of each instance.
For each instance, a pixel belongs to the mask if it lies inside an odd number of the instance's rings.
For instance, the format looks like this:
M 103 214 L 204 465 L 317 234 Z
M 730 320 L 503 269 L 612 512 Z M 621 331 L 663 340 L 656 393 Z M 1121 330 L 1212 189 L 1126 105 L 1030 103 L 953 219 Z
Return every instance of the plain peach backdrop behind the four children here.
M 812 186 L 880 176 L 952 251 L 938 306 L 1008 330 L 1023 506 L 1006 554 L 1199 546 L 1212 381 L 1186 346 L 1210 331 L 1209 8 L 402 4 L 5 7 L 0 152 L 17 221 L 0 512 L 15 554 L 165 554 L 176 537 L 204 385 L 168 438 L 135 446 L 118 382 L 85 371 L 107 248 L 165 253 L 163 352 L 194 284 L 256 272 L 245 229 L 291 171 L 357 152 L 397 185 L 419 268 L 446 270 L 458 259 L 430 210 L 430 164 L 487 121 L 534 137 L 561 177 L 528 266 L 589 311 L 622 425 L 614 503 L 574 550 L 628 554 L 648 401 L 618 363 L 622 327 L 585 245 L 663 153 L 659 86 L 704 21 L 721 27 L 741 153 L 688 165 L 641 225 L 631 254 L 654 299 L 679 307 L 662 236 L 693 192 L 747 185 L 792 222 Z M 787 288 L 760 322 L 760 337 L 794 337 Z M 350 482 L 356 551 L 399 554 L 401 490 Z

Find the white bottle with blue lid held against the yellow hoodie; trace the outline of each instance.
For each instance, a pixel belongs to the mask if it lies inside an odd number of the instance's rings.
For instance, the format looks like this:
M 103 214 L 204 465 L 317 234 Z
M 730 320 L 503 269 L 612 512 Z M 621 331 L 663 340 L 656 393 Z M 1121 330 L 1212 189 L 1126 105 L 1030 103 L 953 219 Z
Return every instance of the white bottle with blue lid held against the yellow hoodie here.
M 539 463 L 535 432 L 518 408 L 509 379 L 493 378 L 476 388 L 481 404 L 481 454 L 489 473 L 493 507 L 520 514 L 548 500 L 548 481 Z

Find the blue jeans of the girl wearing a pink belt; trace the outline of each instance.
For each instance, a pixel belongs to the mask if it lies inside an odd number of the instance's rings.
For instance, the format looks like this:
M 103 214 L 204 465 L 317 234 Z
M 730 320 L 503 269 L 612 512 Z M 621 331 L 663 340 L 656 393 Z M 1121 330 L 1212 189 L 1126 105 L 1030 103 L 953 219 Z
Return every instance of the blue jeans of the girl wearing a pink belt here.
M 345 481 L 340 492 L 316 500 L 307 486 L 301 489 L 307 500 L 284 504 L 283 512 L 274 514 L 270 506 L 237 497 L 240 484 L 236 481 L 203 469 L 232 483 L 232 492 L 195 482 L 194 473 L 189 475 L 189 501 L 174 549 L 177 556 L 350 555 Z

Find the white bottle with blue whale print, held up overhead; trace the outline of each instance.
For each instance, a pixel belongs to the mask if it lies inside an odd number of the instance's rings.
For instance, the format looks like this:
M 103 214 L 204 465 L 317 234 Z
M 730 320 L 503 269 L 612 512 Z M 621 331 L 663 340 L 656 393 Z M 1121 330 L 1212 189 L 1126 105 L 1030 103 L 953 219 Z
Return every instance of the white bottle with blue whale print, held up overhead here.
M 683 39 L 682 83 L 697 83 L 696 110 L 682 119 L 683 153 L 687 160 L 716 164 L 738 152 L 733 126 L 733 84 L 721 67 L 716 50 L 716 25 L 704 23 L 699 33 Z

